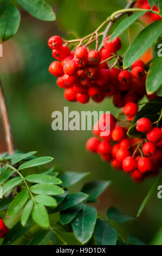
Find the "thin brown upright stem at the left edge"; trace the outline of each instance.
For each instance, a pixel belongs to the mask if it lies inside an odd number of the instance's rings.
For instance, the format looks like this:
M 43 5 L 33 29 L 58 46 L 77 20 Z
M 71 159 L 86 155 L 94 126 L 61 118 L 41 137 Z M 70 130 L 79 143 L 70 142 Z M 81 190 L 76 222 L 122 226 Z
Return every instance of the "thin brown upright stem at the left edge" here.
M 3 121 L 4 132 L 5 132 L 5 141 L 7 143 L 7 150 L 9 155 L 12 155 L 14 153 L 14 144 L 13 144 L 12 133 L 10 128 L 7 104 L 5 102 L 5 96 L 4 96 L 1 80 L 0 80 L 0 108 L 2 113 L 2 121 Z

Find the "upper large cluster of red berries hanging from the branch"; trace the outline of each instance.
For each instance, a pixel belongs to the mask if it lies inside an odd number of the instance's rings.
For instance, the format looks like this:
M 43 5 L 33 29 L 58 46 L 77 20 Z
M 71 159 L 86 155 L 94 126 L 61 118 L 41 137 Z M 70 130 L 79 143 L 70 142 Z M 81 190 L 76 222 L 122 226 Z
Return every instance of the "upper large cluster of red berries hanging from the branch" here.
M 70 52 L 57 35 L 48 40 L 56 59 L 50 64 L 49 72 L 57 77 L 57 86 L 65 89 L 66 100 L 87 103 L 91 97 L 95 102 L 101 102 L 105 97 L 113 96 L 114 105 L 120 108 L 130 101 L 137 103 L 146 94 L 144 62 L 137 60 L 129 70 L 109 68 L 104 62 L 121 48 L 118 37 L 108 42 L 109 37 L 100 52 L 88 52 L 83 46 Z

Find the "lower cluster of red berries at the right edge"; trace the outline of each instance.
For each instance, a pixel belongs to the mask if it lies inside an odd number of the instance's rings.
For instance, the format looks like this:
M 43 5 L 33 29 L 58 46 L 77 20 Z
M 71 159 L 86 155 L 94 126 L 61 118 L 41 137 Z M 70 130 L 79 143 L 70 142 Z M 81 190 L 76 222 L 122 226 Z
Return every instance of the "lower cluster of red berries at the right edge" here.
M 124 114 L 132 118 L 138 112 L 138 105 L 129 102 L 124 106 Z M 106 128 L 106 115 L 109 125 Z M 108 136 L 100 136 L 103 128 Z M 152 127 L 147 118 L 137 121 L 137 130 L 146 132 L 146 138 L 127 137 L 128 126 L 120 126 L 112 114 L 101 115 L 93 127 L 93 135 L 86 143 L 86 149 L 98 153 L 103 161 L 111 161 L 113 169 L 131 174 L 133 181 L 139 182 L 147 176 L 157 175 L 162 166 L 162 129 Z

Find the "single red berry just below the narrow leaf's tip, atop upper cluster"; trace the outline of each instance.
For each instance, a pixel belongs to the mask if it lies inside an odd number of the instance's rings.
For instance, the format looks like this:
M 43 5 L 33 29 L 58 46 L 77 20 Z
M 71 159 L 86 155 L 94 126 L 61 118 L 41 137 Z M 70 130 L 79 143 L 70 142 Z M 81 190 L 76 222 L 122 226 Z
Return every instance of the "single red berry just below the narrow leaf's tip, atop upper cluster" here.
M 111 35 L 107 36 L 104 41 L 104 47 L 110 52 L 115 53 L 118 52 L 121 48 L 121 40 L 120 38 L 116 37 L 111 42 L 108 42 Z

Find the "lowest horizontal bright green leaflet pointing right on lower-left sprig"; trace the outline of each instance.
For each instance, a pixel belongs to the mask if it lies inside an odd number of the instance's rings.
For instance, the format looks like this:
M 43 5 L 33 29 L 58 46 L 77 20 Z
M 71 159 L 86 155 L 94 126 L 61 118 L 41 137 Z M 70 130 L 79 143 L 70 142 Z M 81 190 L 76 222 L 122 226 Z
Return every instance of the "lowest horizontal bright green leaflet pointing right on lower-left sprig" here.
M 64 193 L 61 187 L 52 184 L 36 184 L 31 186 L 30 190 L 35 194 L 49 194 L 51 196 Z

